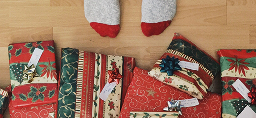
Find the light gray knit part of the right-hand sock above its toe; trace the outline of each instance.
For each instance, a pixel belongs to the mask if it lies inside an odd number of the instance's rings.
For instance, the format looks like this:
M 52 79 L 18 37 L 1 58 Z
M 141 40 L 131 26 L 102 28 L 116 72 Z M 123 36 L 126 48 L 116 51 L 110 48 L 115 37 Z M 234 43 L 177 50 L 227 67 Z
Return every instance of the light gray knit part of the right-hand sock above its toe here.
M 176 0 L 142 0 L 141 22 L 172 21 L 176 14 Z

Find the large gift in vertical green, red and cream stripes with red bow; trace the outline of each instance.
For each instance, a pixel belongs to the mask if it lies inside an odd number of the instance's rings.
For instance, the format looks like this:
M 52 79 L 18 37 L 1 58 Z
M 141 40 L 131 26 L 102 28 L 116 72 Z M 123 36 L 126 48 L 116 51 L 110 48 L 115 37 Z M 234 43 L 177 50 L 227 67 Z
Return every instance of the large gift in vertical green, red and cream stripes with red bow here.
M 134 58 L 63 48 L 58 117 L 118 117 L 134 67 Z M 123 77 L 104 102 L 99 98 L 100 92 L 110 78 L 109 72 L 117 68 Z

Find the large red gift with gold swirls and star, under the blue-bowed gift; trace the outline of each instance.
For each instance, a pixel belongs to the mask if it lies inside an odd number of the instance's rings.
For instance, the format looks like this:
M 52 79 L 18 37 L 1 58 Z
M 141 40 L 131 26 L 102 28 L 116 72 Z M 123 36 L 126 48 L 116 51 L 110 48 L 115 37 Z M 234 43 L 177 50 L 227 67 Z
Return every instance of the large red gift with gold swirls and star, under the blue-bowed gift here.
M 192 96 L 166 85 L 148 75 L 147 70 L 135 67 L 119 118 L 129 118 L 130 112 L 164 112 L 167 101 L 191 99 Z M 199 105 L 182 108 L 179 118 L 220 118 L 221 95 L 208 92 Z

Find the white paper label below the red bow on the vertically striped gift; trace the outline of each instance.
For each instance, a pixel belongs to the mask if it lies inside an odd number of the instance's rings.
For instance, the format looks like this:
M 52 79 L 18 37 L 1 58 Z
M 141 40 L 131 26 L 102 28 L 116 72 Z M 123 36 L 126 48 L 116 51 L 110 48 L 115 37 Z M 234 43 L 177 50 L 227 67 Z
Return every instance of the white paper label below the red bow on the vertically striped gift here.
M 102 99 L 103 101 L 106 101 L 109 94 L 112 92 L 112 90 L 115 88 L 116 86 L 116 82 L 112 82 L 112 83 L 106 83 L 106 85 L 104 86 L 104 88 L 102 89 L 102 91 L 100 92 L 100 99 Z

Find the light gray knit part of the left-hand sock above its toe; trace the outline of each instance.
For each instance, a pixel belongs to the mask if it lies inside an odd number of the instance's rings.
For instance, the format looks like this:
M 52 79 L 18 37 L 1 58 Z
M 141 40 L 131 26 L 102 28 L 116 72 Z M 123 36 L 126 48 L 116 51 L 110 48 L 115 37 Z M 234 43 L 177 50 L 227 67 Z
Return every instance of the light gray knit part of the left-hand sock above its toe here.
M 90 23 L 118 25 L 120 21 L 119 0 L 84 0 L 84 13 Z

